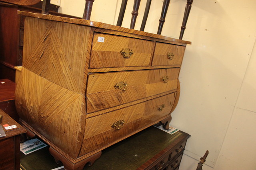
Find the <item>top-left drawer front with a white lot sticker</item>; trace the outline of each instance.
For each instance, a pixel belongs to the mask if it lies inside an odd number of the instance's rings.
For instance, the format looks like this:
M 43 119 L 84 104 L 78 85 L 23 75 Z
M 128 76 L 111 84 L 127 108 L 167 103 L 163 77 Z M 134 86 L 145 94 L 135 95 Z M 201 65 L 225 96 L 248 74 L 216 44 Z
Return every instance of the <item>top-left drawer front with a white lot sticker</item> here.
M 152 41 L 95 33 L 90 68 L 149 66 L 153 47 Z

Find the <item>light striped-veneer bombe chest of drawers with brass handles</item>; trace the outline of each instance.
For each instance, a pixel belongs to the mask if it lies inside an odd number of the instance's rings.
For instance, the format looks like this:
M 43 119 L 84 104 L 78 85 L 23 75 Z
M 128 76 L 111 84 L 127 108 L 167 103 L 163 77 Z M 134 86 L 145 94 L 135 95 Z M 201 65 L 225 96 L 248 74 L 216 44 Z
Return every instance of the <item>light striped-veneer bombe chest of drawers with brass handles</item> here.
M 94 21 L 20 12 L 23 68 L 16 88 L 21 121 L 77 169 L 100 150 L 161 121 L 180 94 L 188 41 Z

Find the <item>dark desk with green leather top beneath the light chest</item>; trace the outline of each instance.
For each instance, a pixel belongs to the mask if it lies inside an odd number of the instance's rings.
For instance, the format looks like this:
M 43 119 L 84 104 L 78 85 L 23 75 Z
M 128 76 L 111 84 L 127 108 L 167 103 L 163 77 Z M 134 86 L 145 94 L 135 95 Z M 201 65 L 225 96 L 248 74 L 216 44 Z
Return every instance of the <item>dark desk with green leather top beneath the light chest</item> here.
M 173 135 L 156 127 L 149 127 L 102 151 L 93 166 L 84 170 L 178 170 L 187 133 Z

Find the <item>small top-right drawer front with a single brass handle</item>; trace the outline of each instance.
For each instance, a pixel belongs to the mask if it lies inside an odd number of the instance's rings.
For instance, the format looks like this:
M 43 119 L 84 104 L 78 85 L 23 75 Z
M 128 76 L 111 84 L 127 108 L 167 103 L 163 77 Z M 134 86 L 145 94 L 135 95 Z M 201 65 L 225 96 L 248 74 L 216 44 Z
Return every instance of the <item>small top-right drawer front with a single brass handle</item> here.
M 181 65 L 185 47 L 156 43 L 152 66 Z

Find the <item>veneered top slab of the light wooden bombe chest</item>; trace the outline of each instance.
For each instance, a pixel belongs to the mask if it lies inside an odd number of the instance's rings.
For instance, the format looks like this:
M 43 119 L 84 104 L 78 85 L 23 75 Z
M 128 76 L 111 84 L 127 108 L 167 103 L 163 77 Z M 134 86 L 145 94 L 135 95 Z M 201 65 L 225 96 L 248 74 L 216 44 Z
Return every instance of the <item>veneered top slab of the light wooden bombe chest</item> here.
M 138 31 L 138 30 L 135 30 L 135 29 L 124 28 L 124 27 L 120 27 L 120 26 L 116 26 L 116 25 L 110 25 L 110 24 L 107 24 L 107 23 L 101 23 L 101 22 L 96 22 L 96 21 L 75 19 L 75 18 L 66 18 L 66 17 L 44 15 L 44 14 L 36 14 L 36 13 L 24 12 L 24 11 L 18 11 L 18 14 L 22 15 L 22 16 L 29 16 L 29 17 L 34 17 L 34 18 L 41 18 L 41 19 L 52 20 L 52 21 L 60 21 L 60 22 L 66 22 L 66 23 L 74 23 L 74 24 L 80 24 L 80 25 L 87 25 L 87 26 L 91 26 L 91 27 L 111 29 L 111 30 L 115 30 L 115 31 L 122 31 L 122 32 L 126 32 L 126 33 L 132 33 L 132 34 L 142 35 L 142 36 L 146 36 L 146 37 L 163 39 L 163 40 L 172 41 L 172 42 L 191 44 L 190 41 L 184 41 L 184 40 L 180 40 L 180 39 L 166 37 L 166 36 L 163 36 L 163 35 L 147 33 L 147 32 L 144 32 L 144 31 Z

